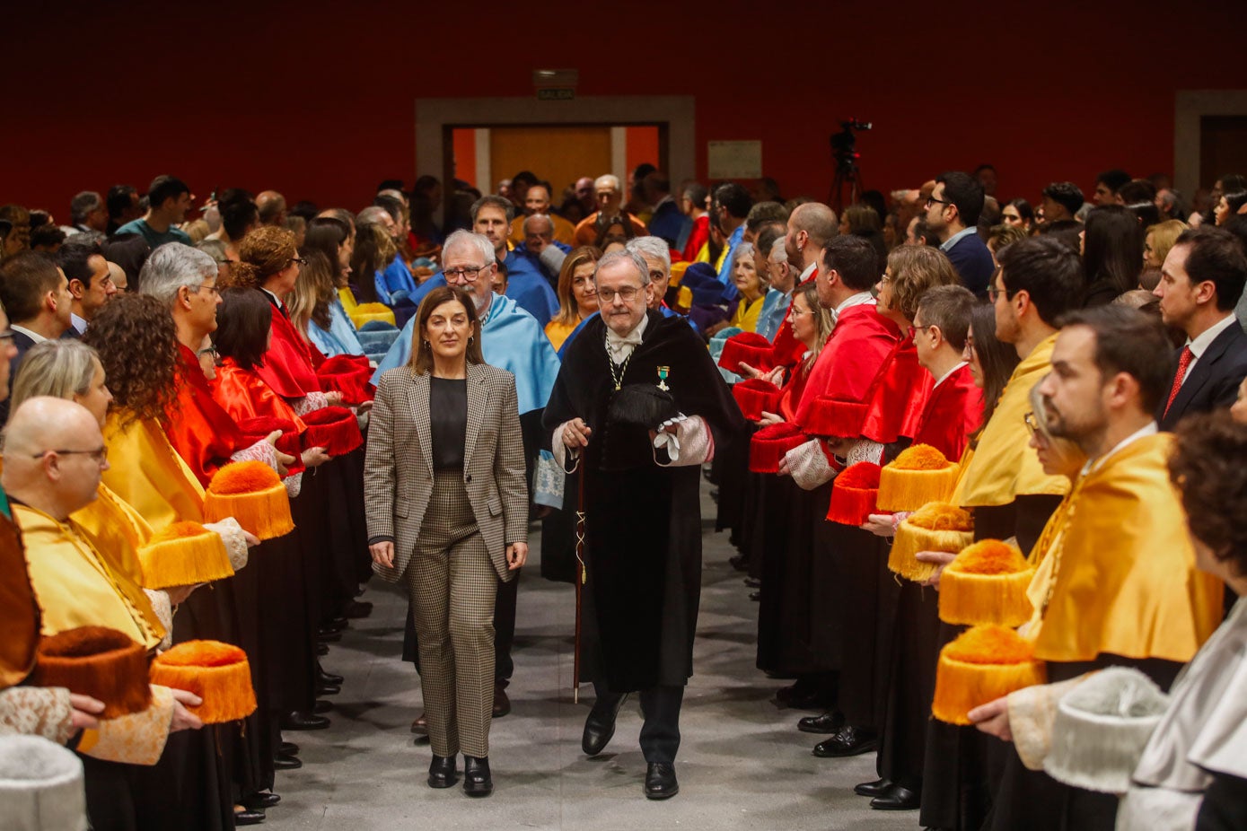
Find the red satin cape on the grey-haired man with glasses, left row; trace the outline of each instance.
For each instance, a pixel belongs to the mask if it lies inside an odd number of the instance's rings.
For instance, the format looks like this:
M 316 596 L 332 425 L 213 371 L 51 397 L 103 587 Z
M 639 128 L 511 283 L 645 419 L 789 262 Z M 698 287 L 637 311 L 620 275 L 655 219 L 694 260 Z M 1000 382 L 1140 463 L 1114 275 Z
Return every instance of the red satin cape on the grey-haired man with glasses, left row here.
M 213 400 L 200 359 L 183 344 L 178 344 L 177 350 L 177 397 L 165 411 L 165 435 L 200 485 L 207 487 L 212 475 L 249 442 L 229 414 Z

